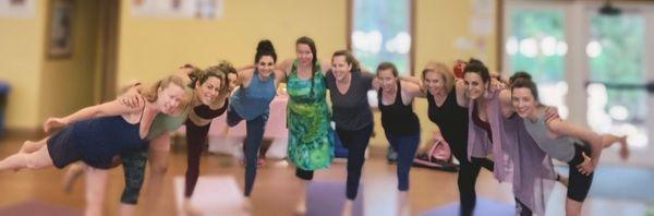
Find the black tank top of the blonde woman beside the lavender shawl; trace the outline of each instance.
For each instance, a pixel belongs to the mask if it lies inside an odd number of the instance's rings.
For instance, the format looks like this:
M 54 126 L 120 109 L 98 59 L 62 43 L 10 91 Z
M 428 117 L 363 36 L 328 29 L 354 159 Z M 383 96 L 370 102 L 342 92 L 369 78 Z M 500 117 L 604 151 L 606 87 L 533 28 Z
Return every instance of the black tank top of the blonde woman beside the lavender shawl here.
M 468 108 L 457 104 L 455 89 L 447 94 L 440 107 L 436 105 L 434 95 L 427 92 L 427 116 L 438 125 L 443 139 L 449 144 L 457 159 L 468 158 Z

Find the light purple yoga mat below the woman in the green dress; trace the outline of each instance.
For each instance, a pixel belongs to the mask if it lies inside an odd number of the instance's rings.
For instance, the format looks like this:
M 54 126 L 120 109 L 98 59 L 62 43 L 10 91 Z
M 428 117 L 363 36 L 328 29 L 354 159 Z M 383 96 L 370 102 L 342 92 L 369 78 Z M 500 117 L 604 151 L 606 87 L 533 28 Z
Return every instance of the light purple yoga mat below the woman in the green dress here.
M 312 181 L 306 195 L 306 215 L 340 215 L 346 203 L 346 182 Z M 363 216 L 363 185 L 361 184 L 353 207 L 353 216 Z

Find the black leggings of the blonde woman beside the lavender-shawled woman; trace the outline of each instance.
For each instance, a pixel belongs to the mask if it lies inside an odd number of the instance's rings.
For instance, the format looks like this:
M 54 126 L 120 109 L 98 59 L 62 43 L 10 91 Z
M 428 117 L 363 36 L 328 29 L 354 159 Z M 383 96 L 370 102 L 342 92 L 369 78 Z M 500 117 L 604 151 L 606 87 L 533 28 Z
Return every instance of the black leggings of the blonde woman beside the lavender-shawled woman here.
M 493 171 L 495 165 L 493 160 L 487 158 L 471 157 L 472 161 L 468 161 L 468 158 L 459 158 L 459 177 L 457 183 L 459 184 L 459 199 L 461 202 L 462 216 L 470 216 L 476 205 L 476 179 L 480 175 L 480 170 L 486 168 L 488 171 Z

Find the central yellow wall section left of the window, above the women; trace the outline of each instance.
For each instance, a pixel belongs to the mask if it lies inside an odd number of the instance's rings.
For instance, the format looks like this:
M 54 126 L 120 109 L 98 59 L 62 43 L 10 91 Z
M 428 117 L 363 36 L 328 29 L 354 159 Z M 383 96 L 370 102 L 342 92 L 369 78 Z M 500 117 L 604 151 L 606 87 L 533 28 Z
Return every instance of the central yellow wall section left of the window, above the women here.
M 251 64 L 263 38 L 272 40 L 280 59 L 294 57 L 293 43 L 303 35 L 324 60 L 347 46 L 344 0 L 225 1 L 222 19 L 204 21 L 133 16 L 130 2 L 121 3 L 119 86 L 156 81 L 183 63 Z

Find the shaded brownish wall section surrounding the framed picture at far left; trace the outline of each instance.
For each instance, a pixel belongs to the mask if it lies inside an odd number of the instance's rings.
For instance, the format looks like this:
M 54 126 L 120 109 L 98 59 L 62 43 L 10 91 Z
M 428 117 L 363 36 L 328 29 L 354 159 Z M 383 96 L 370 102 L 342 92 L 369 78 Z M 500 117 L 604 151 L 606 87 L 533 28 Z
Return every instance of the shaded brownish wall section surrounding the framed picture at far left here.
M 76 1 L 71 58 L 43 56 L 41 121 L 47 117 L 70 115 L 94 104 L 98 1 Z

